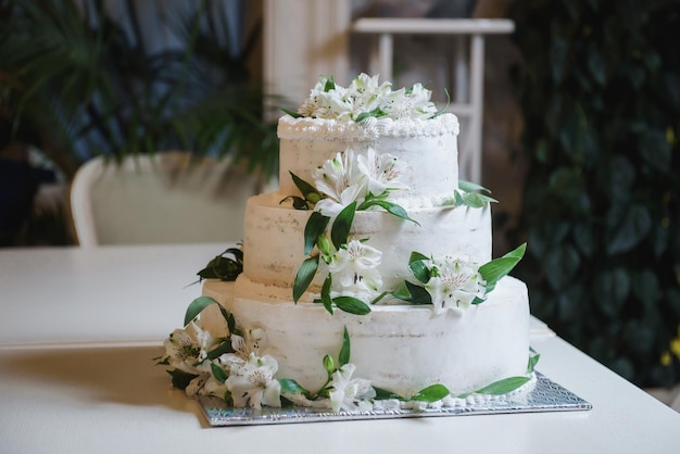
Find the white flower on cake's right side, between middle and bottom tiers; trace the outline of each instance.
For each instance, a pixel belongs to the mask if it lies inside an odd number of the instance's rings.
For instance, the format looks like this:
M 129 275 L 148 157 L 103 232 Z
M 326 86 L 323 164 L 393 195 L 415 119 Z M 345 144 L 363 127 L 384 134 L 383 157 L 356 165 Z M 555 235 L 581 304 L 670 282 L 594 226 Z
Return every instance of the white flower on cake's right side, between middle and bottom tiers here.
M 465 256 L 446 256 L 431 262 L 431 278 L 425 285 L 436 314 L 446 308 L 465 310 L 475 298 L 484 298 L 487 282 L 477 264 Z

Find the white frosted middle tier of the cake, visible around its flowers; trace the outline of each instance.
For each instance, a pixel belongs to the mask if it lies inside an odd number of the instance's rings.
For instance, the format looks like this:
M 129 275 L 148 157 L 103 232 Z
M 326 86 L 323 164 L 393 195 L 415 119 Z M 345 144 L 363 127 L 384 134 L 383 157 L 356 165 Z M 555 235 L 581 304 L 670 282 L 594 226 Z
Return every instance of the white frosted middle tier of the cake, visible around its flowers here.
M 295 273 L 305 258 L 304 226 L 311 212 L 279 204 L 284 197 L 253 197 L 245 210 L 241 277 L 249 283 L 242 285 L 249 286 L 252 295 L 265 299 L 289 300 Z M 428 256 L 464 252 L 479 265 L 491 260 L 490 206 L 411 209 L 408 215 L 419 225 L 382 211 L 360 211 L 354 216 L 351 235 L 367 238 L 367 244 L 382 252 L 378 267 L 381 290 L 393 290 L 411 277 L 413 251 Z M 318 286 L 324 278 L 319 275 Z

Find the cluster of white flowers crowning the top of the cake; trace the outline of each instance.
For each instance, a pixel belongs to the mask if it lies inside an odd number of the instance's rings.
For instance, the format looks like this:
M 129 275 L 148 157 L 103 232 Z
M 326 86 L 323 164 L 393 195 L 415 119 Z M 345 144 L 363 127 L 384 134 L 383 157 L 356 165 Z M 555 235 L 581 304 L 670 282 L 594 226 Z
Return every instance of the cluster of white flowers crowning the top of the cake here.
M 415 84 L 411 88 L 392 90 L 392 84 L 378 81 L 378 75 L 360 74 L 348 87 L 322 76 L 310 97 L 298 108 L 287 111 L 292 116 L 361 122 L 366 118 L 427 119 L 438 110 L 431 90 Z

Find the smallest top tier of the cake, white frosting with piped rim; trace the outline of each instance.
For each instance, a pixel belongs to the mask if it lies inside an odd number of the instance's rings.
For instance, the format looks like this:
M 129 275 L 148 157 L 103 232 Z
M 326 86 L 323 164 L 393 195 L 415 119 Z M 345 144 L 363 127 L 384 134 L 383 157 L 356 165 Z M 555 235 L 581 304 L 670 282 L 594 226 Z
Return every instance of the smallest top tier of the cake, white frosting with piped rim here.
M 389 153 L 405 164 L 401 181 L 407 191 L 393 193 L 404 207 L 437 206 L 458 187 L 458 121 L 446 113 L 428 119 L 374 118 L 361 123 L 285 115 L 278 123 L 280 139 L 279 192 L 299 194 L 293 173 L 313 181 L 312 173 L 337 153 Z

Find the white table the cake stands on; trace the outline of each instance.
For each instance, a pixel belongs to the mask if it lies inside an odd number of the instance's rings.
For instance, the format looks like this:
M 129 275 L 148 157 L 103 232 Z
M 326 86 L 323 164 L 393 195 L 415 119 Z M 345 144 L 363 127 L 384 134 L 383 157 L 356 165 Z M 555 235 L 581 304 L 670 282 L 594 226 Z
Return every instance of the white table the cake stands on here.
M 210 428 L 152 358 L 224 249 L 0 250 L 0 453 L 680 452 L 680 414 L 539 325 L 592 411 Z

